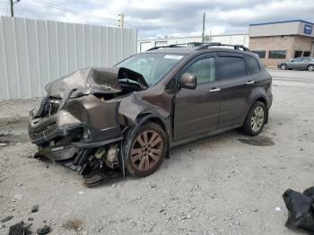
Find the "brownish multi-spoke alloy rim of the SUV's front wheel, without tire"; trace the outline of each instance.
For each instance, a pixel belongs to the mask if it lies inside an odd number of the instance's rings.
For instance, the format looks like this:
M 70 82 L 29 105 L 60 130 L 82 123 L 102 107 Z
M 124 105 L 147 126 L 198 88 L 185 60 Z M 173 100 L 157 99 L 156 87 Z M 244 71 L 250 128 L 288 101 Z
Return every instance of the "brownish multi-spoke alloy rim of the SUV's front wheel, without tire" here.
M 153 130 L 137 135 L 130 153 L 135 169 L 141 171 L 152 169 L 161 159 L 161 135 Z

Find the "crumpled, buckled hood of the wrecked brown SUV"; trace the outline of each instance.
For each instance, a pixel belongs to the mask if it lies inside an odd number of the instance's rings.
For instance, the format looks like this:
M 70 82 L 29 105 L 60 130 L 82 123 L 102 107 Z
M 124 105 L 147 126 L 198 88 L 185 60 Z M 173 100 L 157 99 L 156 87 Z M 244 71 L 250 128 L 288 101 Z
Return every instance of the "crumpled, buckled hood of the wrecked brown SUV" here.
M 88 67 L 75 71 L 46 85 L 48 96 L 63 97 L 71 90 L 82 91 L 121 91 L 119 79 L 133 80 L 148 87 L 142 74 L 124 67 L 95 68 Z

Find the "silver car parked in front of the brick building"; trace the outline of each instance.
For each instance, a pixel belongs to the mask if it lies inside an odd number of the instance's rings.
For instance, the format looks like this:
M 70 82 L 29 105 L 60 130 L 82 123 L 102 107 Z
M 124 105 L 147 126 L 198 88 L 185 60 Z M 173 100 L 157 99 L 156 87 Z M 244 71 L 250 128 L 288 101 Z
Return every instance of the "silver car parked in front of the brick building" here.
M 280 61 L 277 65 L 281 70 L 286 69 L 306 69 L 314 71 L 314 57 L 297 57 L 286 61 Z

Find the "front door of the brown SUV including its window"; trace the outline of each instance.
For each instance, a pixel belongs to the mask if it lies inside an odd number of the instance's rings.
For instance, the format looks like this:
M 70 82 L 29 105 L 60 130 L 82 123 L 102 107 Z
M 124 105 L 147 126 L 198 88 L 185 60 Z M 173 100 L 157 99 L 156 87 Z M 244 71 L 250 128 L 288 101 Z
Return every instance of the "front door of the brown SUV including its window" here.
M 196 74 L 196 89 L 180 89 L 174 108 L 174 140 L 204 135 L 217 128 L 221 92 L 214 54 L 196 57 L 180 73 Z

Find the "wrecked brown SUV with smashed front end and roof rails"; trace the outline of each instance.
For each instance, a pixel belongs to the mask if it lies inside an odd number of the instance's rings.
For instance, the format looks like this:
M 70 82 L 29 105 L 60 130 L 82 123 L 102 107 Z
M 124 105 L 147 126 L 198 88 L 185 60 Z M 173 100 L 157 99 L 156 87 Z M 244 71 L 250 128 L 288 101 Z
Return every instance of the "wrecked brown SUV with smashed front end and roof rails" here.
M 272 78 L 256 54 L 219 43 L 172 45 L 111 68 L 85 68 L 46 86 L 30 113 L 39 152 L 83 174 L 86 185 L 126 170 L 152 174 L 170 147 L 240 127 L 258 135 Z

